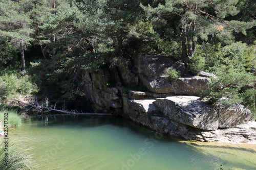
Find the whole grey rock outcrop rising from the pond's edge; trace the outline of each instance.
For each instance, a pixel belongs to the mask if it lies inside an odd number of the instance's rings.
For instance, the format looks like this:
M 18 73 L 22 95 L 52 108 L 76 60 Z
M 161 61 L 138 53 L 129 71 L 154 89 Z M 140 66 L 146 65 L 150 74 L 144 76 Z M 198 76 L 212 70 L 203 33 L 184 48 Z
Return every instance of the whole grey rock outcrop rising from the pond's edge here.
M 179 70 L 182 78 L 169 82 L 166 68 Z M 239 125 L 251 118 L 248 108 L 197 100 L 209 77 L 215 77 L 203 71 L 199 75 L 186 75 L 184 64 L 167 56 L 139 56 L 112 70 L 86 72 L 84 80 L 95 112 L 119 114 L 188 140 L 256 143 L 256 124 Z

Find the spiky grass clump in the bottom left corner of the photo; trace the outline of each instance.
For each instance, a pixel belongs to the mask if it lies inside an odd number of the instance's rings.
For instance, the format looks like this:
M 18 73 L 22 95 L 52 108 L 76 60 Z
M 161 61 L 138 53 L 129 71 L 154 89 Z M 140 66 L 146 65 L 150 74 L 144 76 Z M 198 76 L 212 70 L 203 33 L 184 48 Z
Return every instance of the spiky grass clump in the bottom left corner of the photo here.
M 5 166 L 5 143 L 1 139 L 0 143 L 0 169 L 3 170 L 16 170 L 16 169 L 35 169 L 35 163 L 32 161 L 26 145 L 22 144 L 20 140 L 11 140 L 8 142 L 8 166 Z

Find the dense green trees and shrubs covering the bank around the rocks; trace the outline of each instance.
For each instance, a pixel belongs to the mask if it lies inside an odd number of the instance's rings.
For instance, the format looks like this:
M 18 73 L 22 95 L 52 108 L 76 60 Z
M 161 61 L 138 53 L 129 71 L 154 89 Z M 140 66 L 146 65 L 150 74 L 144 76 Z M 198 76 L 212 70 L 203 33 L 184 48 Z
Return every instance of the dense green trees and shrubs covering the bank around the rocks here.
M 136 55 L 166 54 L 185 62 L 192 74 L 203 70 L 219 77 L 205 99 L 229 98 L 255 113 L 253 0 L 18 0 L 0 5 L 1 102 L 32 94 L 76 108 L 87 100 L 85 71 L 113 69 Z

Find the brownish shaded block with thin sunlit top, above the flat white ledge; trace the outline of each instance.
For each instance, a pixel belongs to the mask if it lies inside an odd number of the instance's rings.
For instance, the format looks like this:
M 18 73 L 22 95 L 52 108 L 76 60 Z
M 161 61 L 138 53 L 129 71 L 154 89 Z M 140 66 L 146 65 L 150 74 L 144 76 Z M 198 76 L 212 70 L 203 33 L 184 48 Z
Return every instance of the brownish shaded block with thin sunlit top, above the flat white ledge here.
M 209 78 L 194 76 L 191 78 L 178 78 L 172 82 L 175 94 L 200 96 L 208 88 Z

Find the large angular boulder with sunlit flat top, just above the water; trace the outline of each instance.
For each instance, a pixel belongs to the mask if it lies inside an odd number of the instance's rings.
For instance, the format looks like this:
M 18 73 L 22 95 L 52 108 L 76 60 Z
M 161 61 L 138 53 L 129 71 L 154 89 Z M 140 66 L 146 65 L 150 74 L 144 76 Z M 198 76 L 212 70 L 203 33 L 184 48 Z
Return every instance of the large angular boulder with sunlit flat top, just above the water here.
M 157 98 L 155 104 L 170 120 L 204 130 L 218 129 L 217 111 L 197 99 L 197 96 L 169 96 Z

